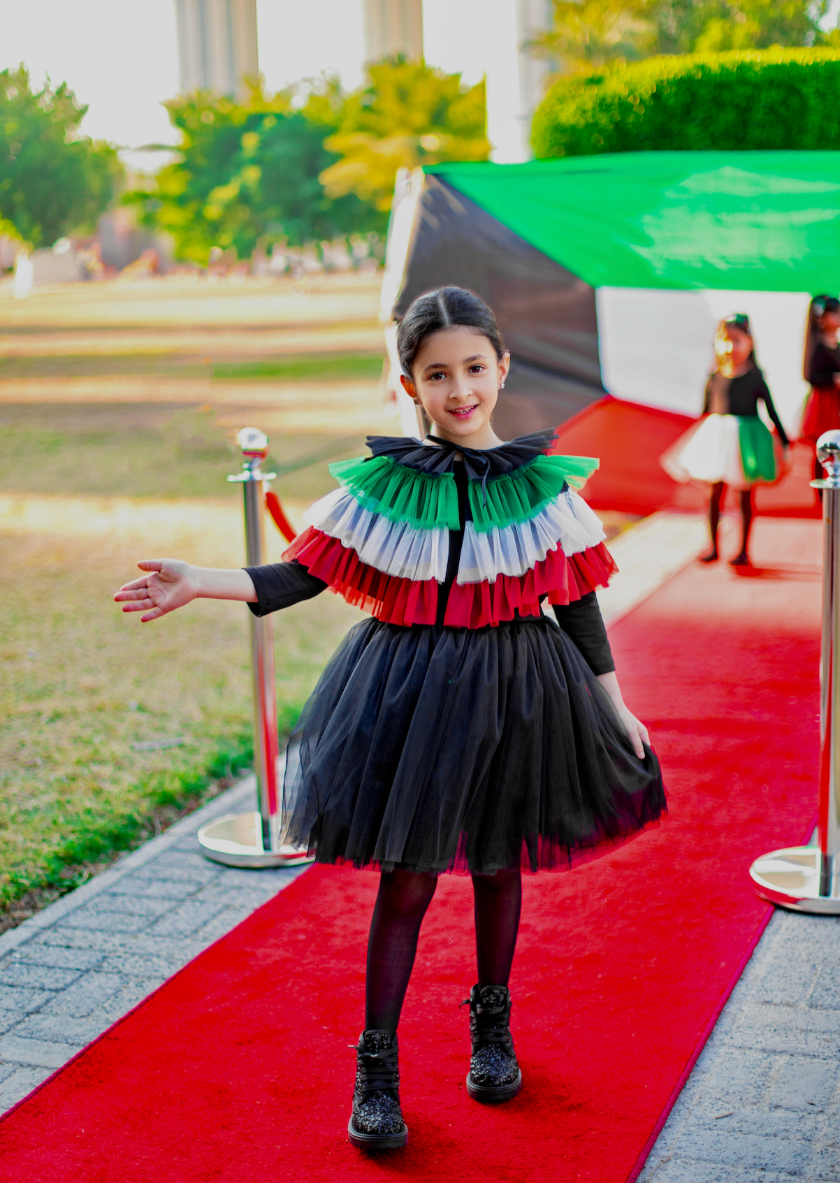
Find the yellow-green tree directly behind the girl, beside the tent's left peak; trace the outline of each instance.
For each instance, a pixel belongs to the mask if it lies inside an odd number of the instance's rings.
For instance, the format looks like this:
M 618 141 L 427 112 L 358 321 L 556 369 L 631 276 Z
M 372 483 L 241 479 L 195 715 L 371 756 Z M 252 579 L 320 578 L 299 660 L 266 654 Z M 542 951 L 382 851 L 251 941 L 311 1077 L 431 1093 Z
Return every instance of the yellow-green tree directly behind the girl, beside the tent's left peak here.
M 484 83 L 467 89 L 458 73 L 405 58 L 370 66 L 368 75 L 327 140 L 341 156 L 321 174 L 330 196 L 355 193 L 385 212 L 398 168 L 487 159 Z

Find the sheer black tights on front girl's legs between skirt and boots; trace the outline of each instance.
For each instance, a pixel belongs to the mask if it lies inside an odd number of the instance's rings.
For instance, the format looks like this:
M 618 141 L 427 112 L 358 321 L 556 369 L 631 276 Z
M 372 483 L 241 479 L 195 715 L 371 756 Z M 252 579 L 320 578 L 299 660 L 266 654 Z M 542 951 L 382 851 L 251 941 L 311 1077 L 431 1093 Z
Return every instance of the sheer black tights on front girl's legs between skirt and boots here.
M 395 1032 L 437 875 L 383 872 L 368 940 L 364 1029 Z M 473 875 L 478 984 L 506 985 L 522 907 L 518 867 Z

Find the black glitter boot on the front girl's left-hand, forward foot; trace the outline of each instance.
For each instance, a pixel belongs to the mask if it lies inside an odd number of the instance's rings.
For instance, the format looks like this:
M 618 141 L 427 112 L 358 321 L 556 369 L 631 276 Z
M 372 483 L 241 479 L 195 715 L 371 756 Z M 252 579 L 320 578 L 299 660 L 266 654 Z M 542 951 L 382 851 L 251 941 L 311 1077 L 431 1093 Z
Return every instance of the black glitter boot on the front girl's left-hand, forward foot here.
M 347 1127 L 350 1142 L 362 1150 L 399 1150 L 408 1142 L 408 1126 L 400 1108 L 396 1035 L 362 1032 L 356 1053 L 356 1087 Z

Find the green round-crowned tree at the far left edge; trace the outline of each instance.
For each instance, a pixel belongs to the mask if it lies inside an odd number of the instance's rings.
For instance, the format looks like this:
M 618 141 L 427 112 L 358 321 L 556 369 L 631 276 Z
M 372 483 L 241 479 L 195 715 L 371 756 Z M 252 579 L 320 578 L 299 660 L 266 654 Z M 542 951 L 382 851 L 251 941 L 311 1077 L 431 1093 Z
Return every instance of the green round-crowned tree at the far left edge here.
M 0 219 L 32 246 L 92 230 L 122 179 L 114 148 L 79 134 L 86 110 L 66 83 L 34 92 L 25 66 L 0 72 Z

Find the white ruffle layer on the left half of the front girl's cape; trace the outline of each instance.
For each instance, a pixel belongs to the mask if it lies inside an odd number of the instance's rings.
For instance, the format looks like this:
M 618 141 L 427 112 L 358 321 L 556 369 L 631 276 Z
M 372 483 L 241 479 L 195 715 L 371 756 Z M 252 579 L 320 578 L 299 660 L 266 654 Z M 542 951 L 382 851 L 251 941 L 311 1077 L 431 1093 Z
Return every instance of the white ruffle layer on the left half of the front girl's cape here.
M 315 526 L 343 547 L 355 550 L 369 567 L 403 580 L 446 578 L 450 531 L 415 530 L 405 522 L 389 522 L 371 513 L 344 489 L 322 497 L 309 508 L 304 524 Z

